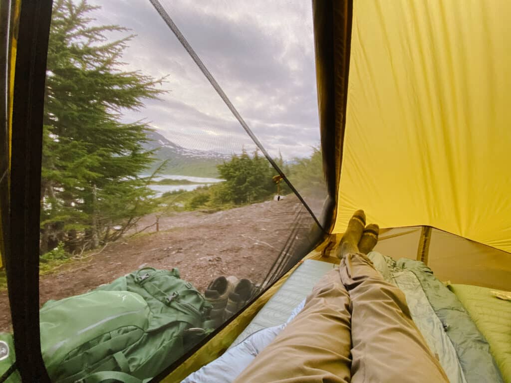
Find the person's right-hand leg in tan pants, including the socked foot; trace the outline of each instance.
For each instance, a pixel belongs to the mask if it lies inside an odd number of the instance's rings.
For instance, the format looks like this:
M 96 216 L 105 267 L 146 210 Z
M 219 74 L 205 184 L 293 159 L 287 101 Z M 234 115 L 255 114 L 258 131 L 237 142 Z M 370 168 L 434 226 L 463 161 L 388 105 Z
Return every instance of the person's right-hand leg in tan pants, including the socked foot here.
M 358 251 L 357 244 L 370 251 L 377 240 L 378 226 L 369 225 L 360 242 L 352 235 L 341 247 L 339 272 L 351 301 L 352 382 L 448 382 L 413 323 L 403 292 Z

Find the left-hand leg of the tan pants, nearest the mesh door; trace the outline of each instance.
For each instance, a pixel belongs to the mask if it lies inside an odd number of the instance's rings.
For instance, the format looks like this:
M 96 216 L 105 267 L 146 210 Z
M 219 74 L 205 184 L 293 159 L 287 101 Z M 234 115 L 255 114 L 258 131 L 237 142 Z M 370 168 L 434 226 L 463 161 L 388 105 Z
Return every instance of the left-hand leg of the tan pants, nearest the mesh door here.
M 339 271 L 322 277 L 305 307 L 235 380 L 350 382 L 350 299 Z

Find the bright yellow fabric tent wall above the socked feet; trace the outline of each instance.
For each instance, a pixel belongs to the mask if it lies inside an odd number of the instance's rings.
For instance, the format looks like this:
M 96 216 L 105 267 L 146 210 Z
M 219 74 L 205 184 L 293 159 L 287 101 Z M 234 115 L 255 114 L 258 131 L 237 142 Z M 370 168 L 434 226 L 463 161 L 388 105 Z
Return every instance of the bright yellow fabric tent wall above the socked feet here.
M 511 2 L 355 0 L 339 208 L 511 251 Z

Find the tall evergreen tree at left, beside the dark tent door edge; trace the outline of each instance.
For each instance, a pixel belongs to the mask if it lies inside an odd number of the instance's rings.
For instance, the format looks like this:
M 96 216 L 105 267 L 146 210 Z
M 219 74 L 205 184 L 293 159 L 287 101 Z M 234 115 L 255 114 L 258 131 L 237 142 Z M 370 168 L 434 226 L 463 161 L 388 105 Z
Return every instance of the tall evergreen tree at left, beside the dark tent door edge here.
M 148 125 L 123 123 L 123 110 L 140 109 L 162 93 L 163 79 L 123 70 L 133 35 L 92 26 L 85 0 L 54 3 L 48 49 L 41 182 L 41 254 L 64 242 L 68 251 L 114 240 L 151 208 L 153 162 L 142 147 Z M 116 226 L 117 230 L 112 230 Z M 117 227 L 119 226 L 119 227 Z

